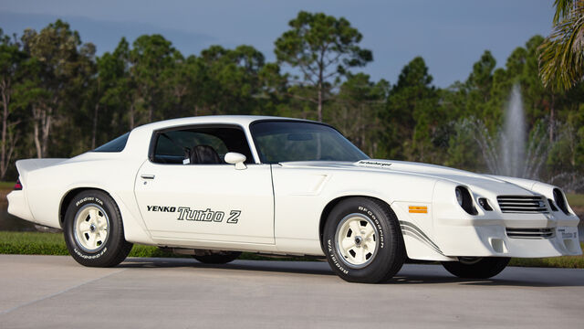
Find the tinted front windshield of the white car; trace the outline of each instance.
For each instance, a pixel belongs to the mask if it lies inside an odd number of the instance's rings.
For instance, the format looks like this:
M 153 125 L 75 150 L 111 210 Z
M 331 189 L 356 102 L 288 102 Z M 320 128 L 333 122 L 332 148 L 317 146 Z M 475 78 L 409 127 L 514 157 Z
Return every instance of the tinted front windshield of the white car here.
M 250 127 L 262 163 L 369 159 L 333 128 L 294 121 L 254 122 Z

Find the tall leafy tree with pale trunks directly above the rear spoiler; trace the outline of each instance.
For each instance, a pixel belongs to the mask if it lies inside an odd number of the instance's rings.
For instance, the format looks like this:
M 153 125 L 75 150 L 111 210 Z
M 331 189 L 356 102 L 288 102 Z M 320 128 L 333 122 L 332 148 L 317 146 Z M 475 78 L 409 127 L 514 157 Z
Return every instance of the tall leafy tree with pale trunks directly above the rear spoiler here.
M 95 47 L 82 44 L 77 31 L 61 20 L 49 24 L 39 33 L 26 29 L 23 46 L 32 58 L 27 64 L 22 97 L 32 109 L 33 138 L 36 156 L 47 155 L 51 128 L 58 111 L 78 106 L 73 104 L 87 87 L 92 75 Z

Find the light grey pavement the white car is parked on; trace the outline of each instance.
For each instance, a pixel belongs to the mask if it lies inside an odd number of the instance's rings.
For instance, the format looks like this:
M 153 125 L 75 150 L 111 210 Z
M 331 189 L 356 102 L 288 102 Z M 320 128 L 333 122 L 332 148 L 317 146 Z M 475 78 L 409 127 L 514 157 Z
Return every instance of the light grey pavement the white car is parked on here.
M 0 328 L 582 328 L 584 270 L 507 268 L 456 279 L 405 265 L 387 284 L 341 281 L 325 262 L 0 255 Z

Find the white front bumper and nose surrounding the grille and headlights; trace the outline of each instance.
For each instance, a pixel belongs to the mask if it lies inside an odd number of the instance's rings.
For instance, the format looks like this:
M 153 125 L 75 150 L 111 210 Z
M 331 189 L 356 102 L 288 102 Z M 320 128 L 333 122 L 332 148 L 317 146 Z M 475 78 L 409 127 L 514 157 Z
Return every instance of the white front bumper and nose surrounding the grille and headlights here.
M 499 187 L 504 190 L 497 193 L 479 186 L 469 188 L 476 209 L 476 214 L 471 215 L 455 200 L 454 185 L 443 183 L 435 186 L 433 238 L 443 256 L 540 258 L 582 253 L 579 218 L 571 209 L 566 214 L 547 205 L 546 211 L 514 212 L 508 209 L 504 212 L 497 196 L 530 195 L 511 184 Z M 481 197 L 488 201 L 491 210 L 479 205 Z M 528 234 L 534 232 L 545 234 Z

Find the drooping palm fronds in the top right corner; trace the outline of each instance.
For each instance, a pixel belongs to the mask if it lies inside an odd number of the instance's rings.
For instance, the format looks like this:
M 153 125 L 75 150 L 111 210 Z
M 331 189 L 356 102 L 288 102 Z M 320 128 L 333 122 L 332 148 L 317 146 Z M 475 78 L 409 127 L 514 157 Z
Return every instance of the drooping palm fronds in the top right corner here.
M 584 0 L 554 5 L 554 30 L 539 47 L 539 75 L 544 86 L 562 92 L 584 77 Z

